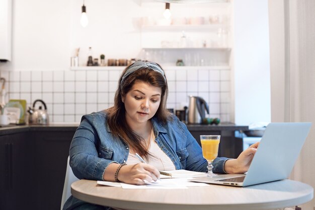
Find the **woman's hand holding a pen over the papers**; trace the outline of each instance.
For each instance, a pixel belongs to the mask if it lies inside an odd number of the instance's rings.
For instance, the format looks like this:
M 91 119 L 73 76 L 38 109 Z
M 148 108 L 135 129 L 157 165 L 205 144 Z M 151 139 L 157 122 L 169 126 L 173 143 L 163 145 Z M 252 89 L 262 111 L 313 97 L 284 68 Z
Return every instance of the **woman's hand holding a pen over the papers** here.
M 145 181 L 152 182 L 160 178 L 160 172 L 154 166 L 138 163 L 121 167 L 117 178 L 124 183 L 143 185 Z

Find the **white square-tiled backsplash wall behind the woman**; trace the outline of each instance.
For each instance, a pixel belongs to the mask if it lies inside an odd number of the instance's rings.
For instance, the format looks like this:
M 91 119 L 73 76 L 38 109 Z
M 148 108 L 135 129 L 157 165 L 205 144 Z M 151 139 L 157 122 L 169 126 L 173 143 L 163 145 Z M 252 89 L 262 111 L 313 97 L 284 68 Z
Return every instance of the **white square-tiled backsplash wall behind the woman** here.
M 8 98 L 26 99 L 28 106 L 42 99 L 52 122 L 80 122 L 83 114 L 112 106 L 120 74 L 114 70 L 1 72 L 8 80 Z M 166 76 L 168 108 L 183 109 L 189 95 L 201 96 L 209 103 L 209 117 L 229 121 L 229 69 L 173 69 L 166 70 Z

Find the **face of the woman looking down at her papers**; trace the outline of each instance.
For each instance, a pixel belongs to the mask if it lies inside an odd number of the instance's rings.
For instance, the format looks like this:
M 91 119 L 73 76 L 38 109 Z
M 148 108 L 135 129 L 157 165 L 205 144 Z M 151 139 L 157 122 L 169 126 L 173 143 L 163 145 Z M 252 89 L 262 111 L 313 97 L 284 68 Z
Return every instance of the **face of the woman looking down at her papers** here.
M 161 94 L 161 88 L 136 81 L 130 91 L 122 97 L 128 124 L 144 123 L 152 118 L 159 109 Z

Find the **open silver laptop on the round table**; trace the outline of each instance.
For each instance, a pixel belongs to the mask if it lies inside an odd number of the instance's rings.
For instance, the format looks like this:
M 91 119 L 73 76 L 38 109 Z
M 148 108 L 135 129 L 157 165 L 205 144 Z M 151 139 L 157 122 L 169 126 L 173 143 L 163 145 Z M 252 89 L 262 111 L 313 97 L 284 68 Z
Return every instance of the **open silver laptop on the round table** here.
M 302 149 L 310 126 L 310 122 L 270 123 L 247 174 L 226 174 L 190 181 L 245 187 L 286 179 Z

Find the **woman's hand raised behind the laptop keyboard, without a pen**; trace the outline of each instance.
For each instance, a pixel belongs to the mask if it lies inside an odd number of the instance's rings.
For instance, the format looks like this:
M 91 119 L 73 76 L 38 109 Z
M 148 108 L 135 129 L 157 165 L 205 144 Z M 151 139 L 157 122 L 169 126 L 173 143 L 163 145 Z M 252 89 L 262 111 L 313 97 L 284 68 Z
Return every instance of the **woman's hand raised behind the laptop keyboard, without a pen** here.
M 245 173 L 248 171 L 253 157 L 257 151 L 259 142 L 251 145 L 248 149 L 244 150 L 237 159 L 227 160 L 224 164 L 226 173 Z

